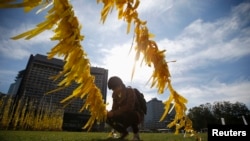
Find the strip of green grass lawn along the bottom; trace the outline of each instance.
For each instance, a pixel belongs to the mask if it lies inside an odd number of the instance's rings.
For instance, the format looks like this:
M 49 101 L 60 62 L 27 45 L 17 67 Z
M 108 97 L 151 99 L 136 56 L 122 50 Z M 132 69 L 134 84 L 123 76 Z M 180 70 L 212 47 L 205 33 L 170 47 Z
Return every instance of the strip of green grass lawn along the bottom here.
M 199 134 L 207 141 L 207 134 Z M 173 133 L 141 133 L 143 141 L 195 141 L 194 137 L 183 137 Z M 56 131 L 5 131 L 0 130 L 0 141 L 108 141 L 108 133 L 99 132 L 56 132 Z M 132 133 L 128 140 L 132 139 Z

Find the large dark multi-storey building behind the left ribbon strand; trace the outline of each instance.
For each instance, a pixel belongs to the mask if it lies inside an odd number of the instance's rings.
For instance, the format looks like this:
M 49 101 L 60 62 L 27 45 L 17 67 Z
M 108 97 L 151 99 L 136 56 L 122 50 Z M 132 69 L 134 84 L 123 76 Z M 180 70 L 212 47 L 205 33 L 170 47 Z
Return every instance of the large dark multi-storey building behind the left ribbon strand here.
M 20 98 L 28 98 L 36 101 L 37 104 L 45 103 L 49 105 L 57 105 L 63 107 L 61 100 L 69 96 L 77 87 L 77 84 L 57 91 L 55 93 L 45 95 L 45 93 L 57 88 L 58 81 L 49 79 L 51 76 L 57 75 L 63 68 L 63 60 L 47 59 L 47 56 L 36 54 L 31 55 L 27 63 L 26 69 L 20 71 L 16 80 L 21 80 L 19 88 L 16 92 L 15 100 Z M 101 90 L 104 101 L 107 95 L 107 78 L 108 70 L 104 68 L 91 67 L 91 74 L 95 76 L 95 83 Z M 89 118 L 88 111 L 79 112 L 83 105 L 82 99 L 75 99 L 64 108 L 63 129 L 64 130 L 82 130 L 82 127 Z M 97 126 L 97 125 L 96 125 Z M 104 124 L 93 127 L 102 130 Z

